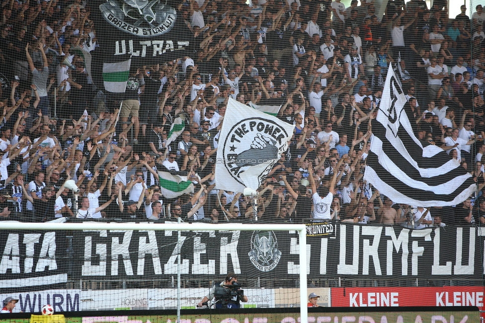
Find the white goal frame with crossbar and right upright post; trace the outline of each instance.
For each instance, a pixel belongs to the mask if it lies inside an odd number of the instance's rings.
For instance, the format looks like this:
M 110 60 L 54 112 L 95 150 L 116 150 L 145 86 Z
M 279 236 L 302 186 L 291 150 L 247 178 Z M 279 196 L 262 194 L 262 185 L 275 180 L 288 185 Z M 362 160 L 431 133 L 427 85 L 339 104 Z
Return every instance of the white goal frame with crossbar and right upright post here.
M 2 230 L 39 230 L 39 231 L 296 231 L 299 236 L 299 289 L 301 322 L 308 322 L 307 311 L 307 238 L 304 224 L 208 224 L 208 223 L 115 223 L 115 222 L 83 222 L 83 223 L 23 223 L 2 222 Z M 303 249 L 302 249 L 303 248 Z M 180 295 L 177 295 L 180 297 Z M 177 303 L 180 310 L 180 303 Z

